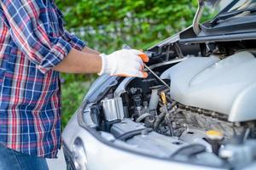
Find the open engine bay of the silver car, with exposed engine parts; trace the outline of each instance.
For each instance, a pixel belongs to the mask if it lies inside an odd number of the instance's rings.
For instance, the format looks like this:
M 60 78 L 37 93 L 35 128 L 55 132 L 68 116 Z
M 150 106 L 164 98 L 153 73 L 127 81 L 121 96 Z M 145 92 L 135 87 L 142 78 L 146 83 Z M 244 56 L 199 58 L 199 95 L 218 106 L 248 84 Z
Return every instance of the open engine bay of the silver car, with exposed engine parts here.
M 122 79 L 92 105 L 96 130 L 149 156 L 238 169 L 254 162 L 256 55 L 251 44 L 227 44 L 151 49 L 150 68 L 170 88 L 150 73 Z

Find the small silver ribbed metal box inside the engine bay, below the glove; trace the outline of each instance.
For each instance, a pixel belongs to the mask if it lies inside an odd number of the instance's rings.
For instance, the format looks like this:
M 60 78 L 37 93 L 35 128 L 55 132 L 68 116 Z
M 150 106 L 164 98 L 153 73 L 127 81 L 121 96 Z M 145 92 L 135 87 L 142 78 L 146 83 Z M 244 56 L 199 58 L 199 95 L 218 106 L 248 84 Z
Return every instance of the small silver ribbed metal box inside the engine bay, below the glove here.
M 125 117 L 122 98 L 103 99 L 102 106 L 107 121 L 123 119 Z

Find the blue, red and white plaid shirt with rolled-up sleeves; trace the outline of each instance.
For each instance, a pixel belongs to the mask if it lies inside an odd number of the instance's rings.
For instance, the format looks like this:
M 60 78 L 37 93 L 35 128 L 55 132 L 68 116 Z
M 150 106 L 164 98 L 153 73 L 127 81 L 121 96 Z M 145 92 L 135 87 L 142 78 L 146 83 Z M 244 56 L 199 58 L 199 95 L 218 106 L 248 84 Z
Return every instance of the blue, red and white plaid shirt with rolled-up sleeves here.
M 51 68 L 85 44 L 63 28 L 53 0 L 0 5 L 0 143 L 55 157 L 61 146 L 61 84 Z

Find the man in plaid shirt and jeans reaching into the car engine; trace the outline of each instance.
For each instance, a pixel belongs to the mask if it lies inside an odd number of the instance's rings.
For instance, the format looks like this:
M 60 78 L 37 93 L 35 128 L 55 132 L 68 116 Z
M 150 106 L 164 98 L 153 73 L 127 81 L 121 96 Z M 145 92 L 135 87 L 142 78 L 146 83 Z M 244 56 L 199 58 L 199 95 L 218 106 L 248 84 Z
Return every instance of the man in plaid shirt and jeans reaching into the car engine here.
M 0 169 L 48 169 L 61 147 L 59 72 L 147 77 L 142 52 L 100 54 L 63 27 L 53 0 L 0 3 Z

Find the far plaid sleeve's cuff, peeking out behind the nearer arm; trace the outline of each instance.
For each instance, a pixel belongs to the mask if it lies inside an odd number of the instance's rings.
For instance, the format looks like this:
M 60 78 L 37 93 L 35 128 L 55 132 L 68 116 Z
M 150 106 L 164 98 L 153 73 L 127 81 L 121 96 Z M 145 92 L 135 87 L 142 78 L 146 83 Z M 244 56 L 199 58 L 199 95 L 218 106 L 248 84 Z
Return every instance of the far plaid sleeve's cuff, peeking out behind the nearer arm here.
M 79 37 L 76 37 L 67 30 L 64 31 L 63 37 L 67 42 L 71 44 L 73 48 L 76 48 L 79 51 L 81 51 L 86 46 L 86 42 L 82 41 L 81 39 L 79 39 Z

